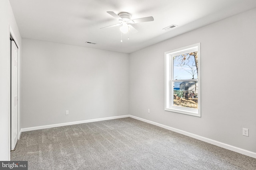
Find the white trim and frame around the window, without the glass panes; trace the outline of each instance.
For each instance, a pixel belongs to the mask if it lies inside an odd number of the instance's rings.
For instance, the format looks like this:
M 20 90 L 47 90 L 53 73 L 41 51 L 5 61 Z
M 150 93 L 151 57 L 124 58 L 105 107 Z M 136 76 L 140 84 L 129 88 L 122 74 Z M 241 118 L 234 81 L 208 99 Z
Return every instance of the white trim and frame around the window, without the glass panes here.
M 198 51 L 198 109 L 186 108 L 186 107 L 178 107 L 172 106 L 170 103 L 173 102 L 173 95 L 170 95 L 173 89 L 172 82 L 173 80 L 173 70 L 172 70 L 172 56 L 181 55 L 185 53 L 192 52 L 192 50 L 197 49 Z M 187 115 L 193 115 L 201 117 L 201 80 L 200 80 L 200 43 L 189 45 L 186 47 L 182 47 L 180 49 L 175 49 L 172 51 L 167 51 L 164 53 L 164 110 L 172 111 L 176 113 L 182 113 Z M 181 81 L 181 80 L 177 80 Z M 191 81 L 195 81 L 195 79 L 191 79 Z

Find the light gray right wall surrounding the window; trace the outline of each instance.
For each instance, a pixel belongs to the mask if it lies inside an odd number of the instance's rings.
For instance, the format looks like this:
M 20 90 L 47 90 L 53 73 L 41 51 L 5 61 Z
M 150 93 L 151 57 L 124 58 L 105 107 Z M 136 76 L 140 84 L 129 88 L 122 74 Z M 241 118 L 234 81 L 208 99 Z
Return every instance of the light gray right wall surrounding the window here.
M 255 21 L 256 9 L 130 54 L 130 114 L 256 152 Z M 164 52 L 195 43 L 202 117 L 164 111 Z

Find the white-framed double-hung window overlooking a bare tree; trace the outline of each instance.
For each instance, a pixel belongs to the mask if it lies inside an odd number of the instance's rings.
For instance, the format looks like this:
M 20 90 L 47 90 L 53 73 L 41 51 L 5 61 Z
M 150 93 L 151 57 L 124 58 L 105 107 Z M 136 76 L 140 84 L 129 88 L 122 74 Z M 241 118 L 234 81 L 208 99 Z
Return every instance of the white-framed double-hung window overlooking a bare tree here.
M 165 110 L 200 113 L 200 43 L 165 54 Z

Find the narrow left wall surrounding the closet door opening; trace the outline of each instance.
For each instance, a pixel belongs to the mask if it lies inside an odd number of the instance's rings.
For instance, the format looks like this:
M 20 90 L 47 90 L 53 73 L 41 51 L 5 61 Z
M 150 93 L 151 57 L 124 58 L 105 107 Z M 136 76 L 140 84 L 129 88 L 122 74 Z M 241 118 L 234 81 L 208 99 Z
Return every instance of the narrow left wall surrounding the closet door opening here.
M 10 33 L 22 47 L 21 36 L 10 2 L 0 0 L 0 160 L 10 159 Z M 21 62 L 21 50 L 19 60 Z M 21 72 L 20 72 L 21 74 Z

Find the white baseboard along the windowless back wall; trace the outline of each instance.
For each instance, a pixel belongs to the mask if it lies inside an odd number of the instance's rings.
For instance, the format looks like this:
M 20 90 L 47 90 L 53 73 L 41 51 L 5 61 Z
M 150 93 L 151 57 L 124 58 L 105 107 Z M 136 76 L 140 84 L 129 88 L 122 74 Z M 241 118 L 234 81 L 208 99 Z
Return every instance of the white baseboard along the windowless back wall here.
M 89 119 L 89 120 L 82 120 L 82 121 L 72 121 L 72 122 L 67 122 L 67 123 L 58 123 L 58 124 L 53 124 L 53 125 L 44 125 L 44 126 L 28 127 L 28 128 L 22 128 L 22 129 L 20 129 L 20 133 L 21 133 L 21 132 L 26 132 L 26 131 L 39 130 L 39 129 L 47 129 L 47 128 L 52 128 L 52 127 L 60 127 L 60 126 L 67 126 L 67 125 L 76 125 L 76 124 L 80 124 L 80 123 L 89 123 L 89 122 L 94 122 L 94 121 L 103 121 L 103 120 L 110 120 L 110 119 L 119 119 L 119 118 L 124 118 L 124 117 L 130 117 L 130 115 L 113 116 L 113 117 L 104 117 L 104 118 L 98 118 L 98 119 Z

